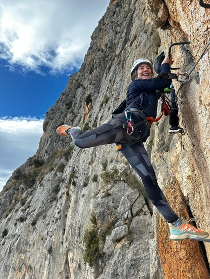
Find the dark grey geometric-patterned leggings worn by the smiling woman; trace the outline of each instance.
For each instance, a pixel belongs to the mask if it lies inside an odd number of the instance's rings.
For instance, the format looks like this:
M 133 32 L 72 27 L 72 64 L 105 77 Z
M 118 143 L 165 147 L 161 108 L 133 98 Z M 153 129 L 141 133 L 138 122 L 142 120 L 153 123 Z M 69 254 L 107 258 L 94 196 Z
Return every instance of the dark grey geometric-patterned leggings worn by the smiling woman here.
M 139 135 L 137 128 L 134 129 L 132 135 L 128 135 L 126 129 L 120 127 L 97 135 L 97 131 L 105 127 L 107 127 L 106 123 L 88 132 L 72 128 L 68 130 L 68 134 L 71 136 L 74 144 L 80 148 L 89 148 L 111 143 L 128 143 L 134 141 Z M 157 207 L 165 220 L 169 223 L 175 222 L 179 217 L 174 213 L 157 184 L 155 171 L 143 144 L 136 142 L 130 146 L 126 146 L 120 152 L 141 177 L 149 199 Z

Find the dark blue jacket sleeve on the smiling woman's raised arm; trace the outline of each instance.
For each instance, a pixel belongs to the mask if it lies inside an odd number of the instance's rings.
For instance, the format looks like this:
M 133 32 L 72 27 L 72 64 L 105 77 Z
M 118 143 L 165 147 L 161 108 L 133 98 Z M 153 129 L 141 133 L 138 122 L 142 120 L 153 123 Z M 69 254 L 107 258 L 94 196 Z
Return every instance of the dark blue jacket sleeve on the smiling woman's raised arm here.
M 168 63 L 164 63 L 161 65 L 160 73 L 170 73 L 170 65 Z M 139 79 L 135 80 L 136 86 L 141 92 L 151 92 L 155 90 L 163 90 L 166 87 L 169 87 L 172 80 L 168 80 L 162 77 L 152 78 L 152 79 Z

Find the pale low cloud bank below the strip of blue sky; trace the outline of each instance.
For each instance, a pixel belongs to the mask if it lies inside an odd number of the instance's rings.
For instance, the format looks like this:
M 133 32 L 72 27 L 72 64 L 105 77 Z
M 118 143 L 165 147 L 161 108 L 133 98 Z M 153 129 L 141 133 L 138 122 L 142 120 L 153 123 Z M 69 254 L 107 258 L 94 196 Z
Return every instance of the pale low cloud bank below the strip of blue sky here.
M 0 191 L 12 172 L 35 155 L 43 121 L 33 117 L 0 118 Z

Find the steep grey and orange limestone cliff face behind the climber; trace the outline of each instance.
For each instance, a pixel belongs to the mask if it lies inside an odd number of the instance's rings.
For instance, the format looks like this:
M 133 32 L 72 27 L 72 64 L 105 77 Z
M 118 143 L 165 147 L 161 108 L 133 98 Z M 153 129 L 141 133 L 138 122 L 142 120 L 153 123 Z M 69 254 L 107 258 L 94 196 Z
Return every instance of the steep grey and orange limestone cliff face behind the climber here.
M 80 70 L 46 114 L 36 155 L 0 194 L 0 278 L 210 278 L 210 245 L 169 240 L 114 145 L 82 150 L 55 132 L 109 119 L 125 99 L 133 62 L 154 62 L 173 42 L 191 41 L 172 48 L 174 67 L 190 72 L 210 41 L 209 22 L 199 1 L 110 1 Z M 172 208 L 210 232 L 209 49 L 190 81 L 181 88 L 173 81 L 186 135 L 170 135 L 163 117 L 145 146 Z

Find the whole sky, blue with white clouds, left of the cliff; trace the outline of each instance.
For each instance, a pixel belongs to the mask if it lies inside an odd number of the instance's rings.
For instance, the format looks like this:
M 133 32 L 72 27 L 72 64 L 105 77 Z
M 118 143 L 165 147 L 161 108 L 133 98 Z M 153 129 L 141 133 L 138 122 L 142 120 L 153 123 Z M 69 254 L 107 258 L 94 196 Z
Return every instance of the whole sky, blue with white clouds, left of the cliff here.
M 78 71 L 109 0 L 1 0 L 0 191 L 33 156 L 46 112 Z

